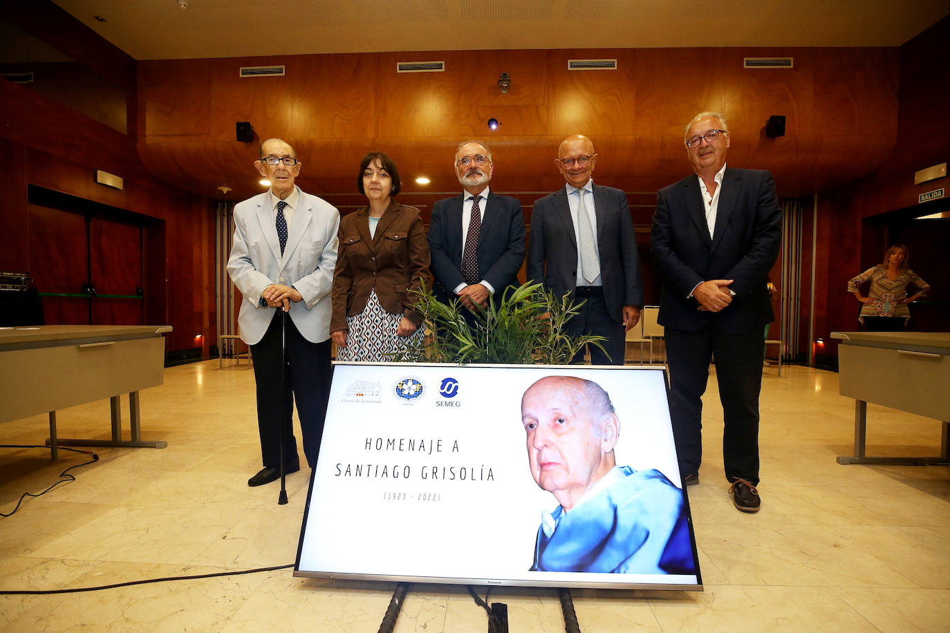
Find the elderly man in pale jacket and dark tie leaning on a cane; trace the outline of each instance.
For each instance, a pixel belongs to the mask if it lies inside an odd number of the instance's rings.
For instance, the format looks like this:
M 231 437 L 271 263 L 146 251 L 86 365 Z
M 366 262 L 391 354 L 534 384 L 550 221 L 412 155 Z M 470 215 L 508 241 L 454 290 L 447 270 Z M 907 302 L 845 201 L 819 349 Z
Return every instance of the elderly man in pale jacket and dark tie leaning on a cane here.
M 242 295 L 237 324 L 251 346 L 257 383 L 257 428 L 263 468 L 249 486 L 300 470 L 292 414 L 296 398 L 303 450 L 316 464 L 330 389 L 330 290 L 336 265 L 340 214 L 294 184 L 300 161 L 280 139 L 265 140 L 255 162 L 271 182 L 267 193 L 237 203 L 228 273 Z M 287 383 L 281 373 L 277 310 L 287 313 Z M 286 411 L 282 414 L 282 411 Z

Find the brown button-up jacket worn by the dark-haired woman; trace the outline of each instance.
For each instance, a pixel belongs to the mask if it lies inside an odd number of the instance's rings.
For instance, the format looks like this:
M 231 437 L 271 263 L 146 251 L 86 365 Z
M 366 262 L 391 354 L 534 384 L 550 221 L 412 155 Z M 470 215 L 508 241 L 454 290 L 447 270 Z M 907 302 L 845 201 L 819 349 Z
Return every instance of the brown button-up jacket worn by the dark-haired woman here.
M 370 237 L 370 207 L 340 220 L 340 246 L 333 272 L 333 317 L 330 331 L 347 329 L 347 316 L 359 314 L 376 290 L 379 303 L 392 314 L 405 314 L 416 326 L 422 316 L 412 309 L 410 289 L 422 280 L 432 288 L 429 253 L 422 216 L 414 207 L 390 202 Z

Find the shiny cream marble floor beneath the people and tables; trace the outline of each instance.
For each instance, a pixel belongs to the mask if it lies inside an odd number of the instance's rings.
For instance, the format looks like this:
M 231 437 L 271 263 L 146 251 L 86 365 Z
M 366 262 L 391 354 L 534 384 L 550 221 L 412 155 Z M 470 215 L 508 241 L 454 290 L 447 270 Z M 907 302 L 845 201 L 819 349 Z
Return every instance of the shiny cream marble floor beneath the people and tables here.
M 123 400 L 126 406 L 127 400 Z M 838 375 L 765 370 L 762 511 L 736 511 L 721 456 L 714 376 L 702 483 L 689 489 L 705 590 L 575 590 L 580 628 L 601 631 L 946 631 L 950 467 L 842 466 L 852 400 Z M 246 363 L 165 370 L 142 392 L 142 436 L 168 448 L 90 449 L 76 481 L 0 518 L 0 591 L 104 586 L 292 565 L 307 494 L 289 475 L 248 488 L 259 468 L 254 378 Z M 127 412 L 123 412 L 127 416 Z M 937 455 L 940 422 L 868 406 L 869 455 Z M 127 424 L 127 421 L 126 421 Z M 59 413 L 60 437 L 108 436 L 108 403 Z M 44 416 L 0 425 L 8 444 L 42 443 Z M 126 430 L 127 433 L 127 430 Z M 0 511 L 85 456 L 0 449 Z M 309 473 L 308 469 L 305 469 Z M 0 593 L 5 631 L 376 631 L 390 583 L 295 578 L 290 569 L 63 594 Z M 485 587 L 477 587 L 485 596 Z M 500 589 L 512 632 L 564 630 L 554 590 Z M 395 631 L 487 630 L 461 586 L 412 586 Z

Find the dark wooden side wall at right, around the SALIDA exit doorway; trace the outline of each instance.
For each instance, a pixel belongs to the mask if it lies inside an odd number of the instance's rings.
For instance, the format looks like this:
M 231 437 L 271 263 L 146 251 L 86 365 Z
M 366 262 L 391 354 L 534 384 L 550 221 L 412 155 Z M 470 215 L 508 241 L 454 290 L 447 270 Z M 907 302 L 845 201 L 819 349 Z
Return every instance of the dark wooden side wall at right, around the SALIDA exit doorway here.
M 867 177 L 818 194 L 815 338 L 825 341 L 822 348 L 816 348 L 816 355 L 825 357 L 826 363 L 834 365 L 837 359 L 837 343 L 828 338 L 830 333 L 859 327 L 859 306 L 846 292 L 847 280 L 878 263 L 883 256 L 881 245 L 892 242 L 893 236 L 887 234 L 888 222 L 883 214 L 897 210 L 914 214 L 920 194 L 940 187 L 950 189 L 945 177 L 914 184 L 914 172 L 950 158 L 950 127 L 945 124 L 950 82 L 940 61 L 948 29 L 950 18 L 944 18 L 900 49 L 898 139 L 882 167 Z M 874 121 L 868 121 L 864 129 L 867 134 L 877 133 Z M 928 203 L 921 206 L 920 214 L 938 209 L 950 209 L 950 202 L 945 198 Z M 875 217 L 880 221 L 872 224 L 878 227 L 863 234 L 864 220 Z M 926 318 L 915 321 L 912 316 L 908 325 L 913 329 L 950 331 L 950 270 L 947 270 L 945 254 L 942 267 L 921 270 L 914 266 L 915 252 L 929 251 L 931 255 L 946 252 L 945 242 L 938 239 L 940 233 L 931 234 L 935 239 L 923 241 L 921 238 L 919 243 L 908 244 L 912 253 L 911 268 L 931 285 L 927 299 L 942 301 L 944 305 L 922 308 L 928 313 Z M 869 248 L 865 248 L 866 241 L 871 242 Z M 911 307 L 911 312 L 924 316 L 921 307 Z

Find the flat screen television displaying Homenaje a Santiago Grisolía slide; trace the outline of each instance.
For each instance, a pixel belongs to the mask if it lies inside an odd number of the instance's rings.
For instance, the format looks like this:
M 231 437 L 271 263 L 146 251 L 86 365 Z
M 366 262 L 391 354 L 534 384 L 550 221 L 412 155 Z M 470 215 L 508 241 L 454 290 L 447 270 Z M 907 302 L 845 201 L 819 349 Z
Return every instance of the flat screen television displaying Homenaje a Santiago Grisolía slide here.
M 335 363 L 295 576 L 701 590 L 661 367 Z

